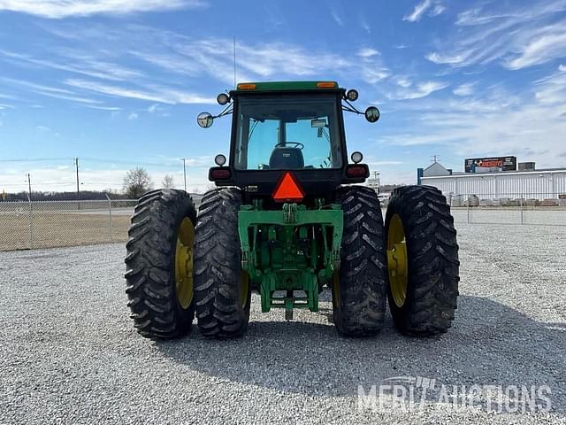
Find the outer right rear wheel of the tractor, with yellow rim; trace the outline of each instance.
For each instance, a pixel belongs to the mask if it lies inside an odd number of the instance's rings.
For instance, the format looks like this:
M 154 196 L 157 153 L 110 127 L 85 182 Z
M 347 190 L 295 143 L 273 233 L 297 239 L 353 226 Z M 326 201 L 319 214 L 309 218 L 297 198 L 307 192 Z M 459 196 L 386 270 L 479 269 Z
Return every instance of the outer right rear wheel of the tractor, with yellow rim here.
M 442 334 L 458 298 L 458 243 L 446 197 L 431 186 L 395 189 L 386 213 L 389 308 L 403 334 Z

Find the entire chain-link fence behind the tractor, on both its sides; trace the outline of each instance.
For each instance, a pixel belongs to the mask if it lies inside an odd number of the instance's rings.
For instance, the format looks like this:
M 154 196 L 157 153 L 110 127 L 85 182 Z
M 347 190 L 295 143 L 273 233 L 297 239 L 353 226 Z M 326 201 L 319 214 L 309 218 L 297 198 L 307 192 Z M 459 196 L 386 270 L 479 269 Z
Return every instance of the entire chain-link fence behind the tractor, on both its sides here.
M 198 206 L 200 197 L 193 198 Z M 563 194 L 448 194 L 447 202 L 456 223 L 566 226 Z M 126 242 L 136 203 L 135 199 L 0 202 L 0 251 Z

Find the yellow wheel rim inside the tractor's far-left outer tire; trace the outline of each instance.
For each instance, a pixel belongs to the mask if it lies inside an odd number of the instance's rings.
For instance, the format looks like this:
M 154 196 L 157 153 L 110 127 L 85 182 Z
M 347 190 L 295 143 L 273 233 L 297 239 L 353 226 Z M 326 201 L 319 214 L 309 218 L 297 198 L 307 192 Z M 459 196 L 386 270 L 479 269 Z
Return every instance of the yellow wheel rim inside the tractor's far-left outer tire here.
M 175 292 L 179 304 L 187 309 L 193 301 L 193 245 L 195 243 L 195 227 L 185 217 L 177 232 L 177 249 L 175 250 Z

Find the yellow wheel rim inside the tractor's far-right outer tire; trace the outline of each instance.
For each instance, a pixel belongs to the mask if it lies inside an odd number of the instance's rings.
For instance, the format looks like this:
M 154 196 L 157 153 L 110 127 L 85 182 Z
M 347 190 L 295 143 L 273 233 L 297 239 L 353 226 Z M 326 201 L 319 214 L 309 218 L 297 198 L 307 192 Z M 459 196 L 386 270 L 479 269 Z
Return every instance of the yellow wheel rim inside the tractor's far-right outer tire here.
M 397 214 L 391 217 L 387 228 L 387 268 L 395 305 L 402 307 L 407 298 L 409 271 L 405 229 L 401 217 Z

